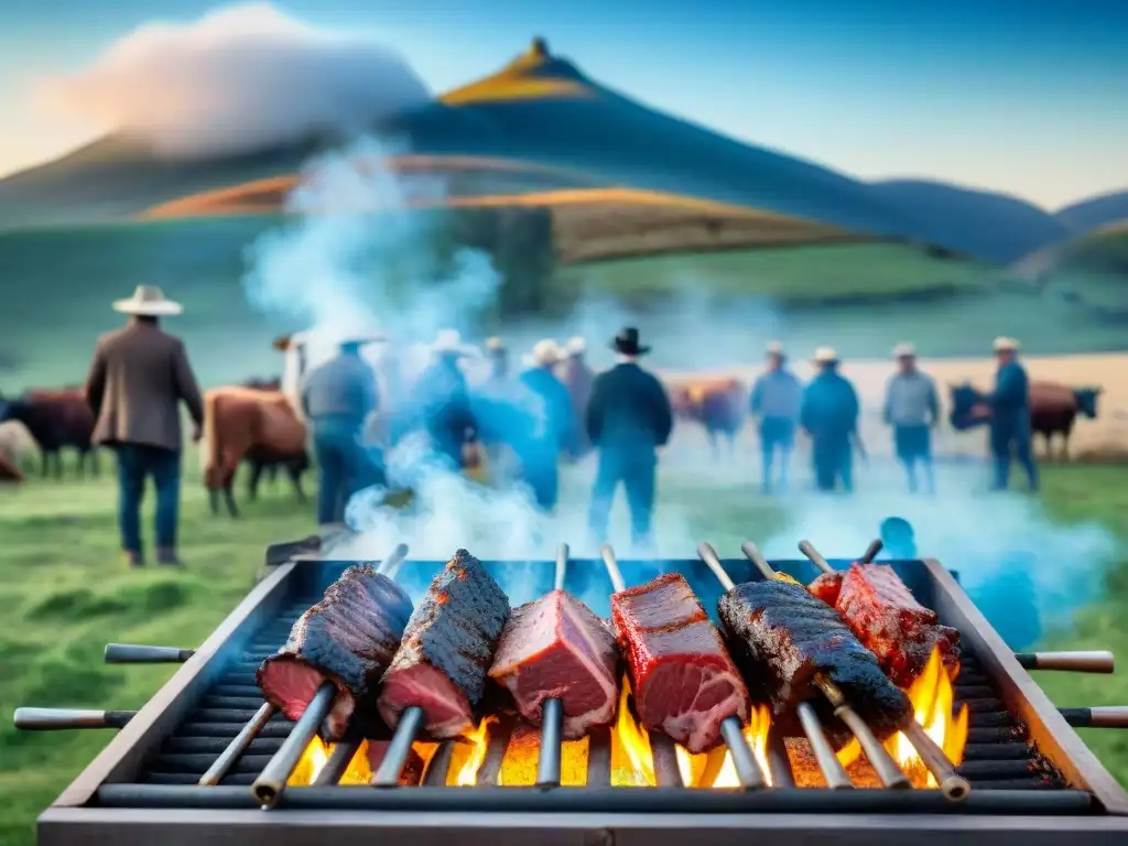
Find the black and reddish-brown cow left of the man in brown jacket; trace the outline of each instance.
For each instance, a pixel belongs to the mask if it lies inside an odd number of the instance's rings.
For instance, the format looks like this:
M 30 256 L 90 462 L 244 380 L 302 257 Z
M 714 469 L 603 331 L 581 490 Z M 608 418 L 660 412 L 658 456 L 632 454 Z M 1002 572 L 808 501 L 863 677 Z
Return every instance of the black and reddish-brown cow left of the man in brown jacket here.
M 0 423 L 17 421 L 27 426 L 39 446 L 41 470 L 45 477 L 54 464 L 55 477 L 62 478 L 62 450 L 78 450 L 78 475 L 99 473 L 98 453 L 90 439 L 94 435 L 94 412 L 87 405 L 81 388 L 29 390 L 18 399 L 0 398 Z

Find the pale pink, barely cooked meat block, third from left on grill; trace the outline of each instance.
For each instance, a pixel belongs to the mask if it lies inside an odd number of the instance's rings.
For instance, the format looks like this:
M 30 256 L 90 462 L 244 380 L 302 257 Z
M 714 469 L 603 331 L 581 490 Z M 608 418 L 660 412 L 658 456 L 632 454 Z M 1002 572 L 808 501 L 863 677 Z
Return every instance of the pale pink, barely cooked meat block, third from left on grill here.
M 578 740 L 615 720 L 619 651 L 607 624 L 563 590 L 513 610 L 490 678 L 504 685 L 518 710 L 540 725 L 545 699 L 559 699 L 564 738 Z

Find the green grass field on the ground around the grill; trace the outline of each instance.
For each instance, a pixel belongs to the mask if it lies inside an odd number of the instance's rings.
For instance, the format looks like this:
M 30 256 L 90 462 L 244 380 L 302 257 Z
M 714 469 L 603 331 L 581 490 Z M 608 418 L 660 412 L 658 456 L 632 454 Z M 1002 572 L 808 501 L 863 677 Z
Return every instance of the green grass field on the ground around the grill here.
M 21 490 L 0 490 L 0 845 L 33 841 L 35 817 L 102 749 L 107 732 L 18 733 L 10 722 L 20 705 L 135 708 L 170 669 L 107 667 L 111 641 L 193 646 L 250 589 L 267 543 L 312 529 L 309 509 L 280 482 L 239 521 L 210 515 L 186 458 L 182 512 L 183 572 L 129 571 L 116 548 L 115 490 L 111 479 L 62 483 L 37 478 Z M 571 472 L 565 496 L 587 493 L 587 470 Z M 1049 466 L 1042 500 L 1058 521 L 1096 520 L 1128 541 L 1128 474 L 1122 468 Z M 704 495 L 708 493 L 708 495 Z M 150 503 L 151 506 L 151 503 Z M 747 487 L 707 476 L 667 478 L 659 505 L 680 512 L 688 529 L 719 548 L 741 537 L 785 532 L 776 503 Z M 1069 566 L 1069 562 L 1063 562 Z M 1073 631 L 1051 633 L 1047 645 L 1111 649 L 1128 661 L 1128 557 L 1108 574 L 1104 598 L 1083 611 Z M 1061 705 L 1128 703 L 1128 673 L 1084 677 L 1041 673 Z M 1128 784 L 1128 733 L 1086 732 L 1105 765 Z

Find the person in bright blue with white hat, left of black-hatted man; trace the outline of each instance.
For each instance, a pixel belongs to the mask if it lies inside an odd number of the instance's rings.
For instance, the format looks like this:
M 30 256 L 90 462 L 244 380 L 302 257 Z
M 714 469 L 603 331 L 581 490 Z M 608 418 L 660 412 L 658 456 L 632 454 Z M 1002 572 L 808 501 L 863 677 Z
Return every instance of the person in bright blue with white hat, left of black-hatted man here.
M 521 373 L 521 386 L 532 402 L 528 442 L 518 446 L 518 458 L 526 483 L 532 488 L 537 505 L 552 511 L 559 496 L 561 453 L 575 449 L 575 418 L 572 397 L 553 373 L 561 361 L 554 341 L 539 341 L 532 347 L 532 367 Z

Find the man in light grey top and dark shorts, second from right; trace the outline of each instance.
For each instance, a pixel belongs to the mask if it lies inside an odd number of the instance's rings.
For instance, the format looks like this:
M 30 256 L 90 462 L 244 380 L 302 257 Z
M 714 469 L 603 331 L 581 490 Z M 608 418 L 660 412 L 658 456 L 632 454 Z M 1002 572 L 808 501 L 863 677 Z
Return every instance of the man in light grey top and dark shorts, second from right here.
M 893 447 L 897 459 L 908 475 L 909 493 L 917 492 L 916 466 L 924 469 L 925 491 L 936 492 L 932 468 L 932 430 L 940 422 L 940 398 L 936 382 L 917 368 L 913 344 L 893 347 L 898 372 L 885 386 L 885 405 L 882 418 L 893 428 Z

